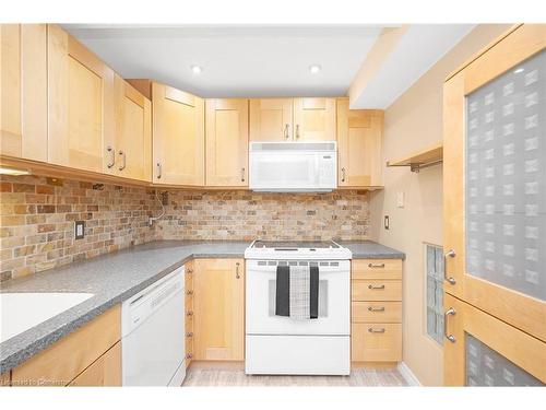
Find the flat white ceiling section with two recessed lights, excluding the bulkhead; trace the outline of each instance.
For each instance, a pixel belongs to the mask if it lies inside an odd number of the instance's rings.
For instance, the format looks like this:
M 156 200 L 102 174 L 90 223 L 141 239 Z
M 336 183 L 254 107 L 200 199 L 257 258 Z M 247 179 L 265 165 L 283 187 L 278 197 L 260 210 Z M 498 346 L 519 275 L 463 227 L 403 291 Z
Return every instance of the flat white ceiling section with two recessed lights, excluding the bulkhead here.
M 123 78 L 203 97 L 345 95 L 378 25 L 63 25 Z M 203 68 L 193 74 L 191 66 Z M 322 70 L 310 74 L 309 66 Z

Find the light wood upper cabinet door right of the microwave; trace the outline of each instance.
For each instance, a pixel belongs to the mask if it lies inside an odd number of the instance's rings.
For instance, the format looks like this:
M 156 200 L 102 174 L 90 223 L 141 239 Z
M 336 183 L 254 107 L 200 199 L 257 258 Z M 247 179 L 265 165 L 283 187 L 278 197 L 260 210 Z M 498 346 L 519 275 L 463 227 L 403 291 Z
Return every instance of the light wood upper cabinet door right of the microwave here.
M 340 187 L 382 184 L 383 113 L 349 109 L 348 98 L 337 99 L 337 152 Z

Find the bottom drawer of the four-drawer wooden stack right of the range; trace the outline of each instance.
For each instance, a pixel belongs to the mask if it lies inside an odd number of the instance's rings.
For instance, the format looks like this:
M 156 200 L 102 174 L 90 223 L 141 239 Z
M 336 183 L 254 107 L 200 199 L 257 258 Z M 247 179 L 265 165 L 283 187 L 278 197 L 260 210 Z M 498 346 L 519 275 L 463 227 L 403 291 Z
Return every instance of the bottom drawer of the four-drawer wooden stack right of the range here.
M 353 362 L 399 362 L 402 360 L 401 324 L 353 324 Z

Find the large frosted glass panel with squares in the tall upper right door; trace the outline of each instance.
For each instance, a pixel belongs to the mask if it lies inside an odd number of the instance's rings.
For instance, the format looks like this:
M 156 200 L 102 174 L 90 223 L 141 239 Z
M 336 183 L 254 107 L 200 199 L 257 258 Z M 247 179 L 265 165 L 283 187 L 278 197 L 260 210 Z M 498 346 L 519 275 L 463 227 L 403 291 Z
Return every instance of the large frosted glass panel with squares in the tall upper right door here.
M 467 96 L 466 272 L 546 300 L 546 51 Z

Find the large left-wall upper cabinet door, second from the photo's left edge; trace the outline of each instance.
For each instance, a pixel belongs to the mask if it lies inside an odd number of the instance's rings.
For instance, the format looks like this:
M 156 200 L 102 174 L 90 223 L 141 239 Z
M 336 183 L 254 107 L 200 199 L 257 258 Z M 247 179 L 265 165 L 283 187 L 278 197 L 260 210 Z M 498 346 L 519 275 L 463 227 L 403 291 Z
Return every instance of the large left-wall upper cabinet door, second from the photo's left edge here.
M 57 25 L 48 25 L 48 162 L 107 171 L 103 156 L 115 129 L 114 71 Z

